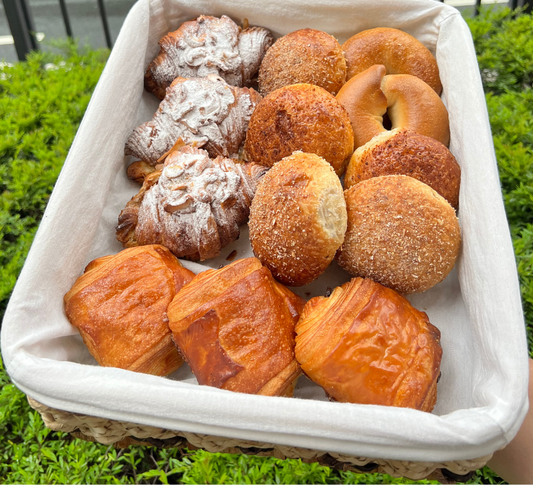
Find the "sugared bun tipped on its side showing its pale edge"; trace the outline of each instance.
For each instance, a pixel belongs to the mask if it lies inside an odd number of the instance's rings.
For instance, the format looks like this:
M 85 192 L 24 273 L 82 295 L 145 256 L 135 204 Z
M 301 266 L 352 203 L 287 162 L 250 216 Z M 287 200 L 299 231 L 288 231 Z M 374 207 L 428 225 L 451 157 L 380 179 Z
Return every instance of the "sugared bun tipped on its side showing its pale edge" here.
M 259 182 L 250 208 L 254 254 L 285 285 L 302 286 L 329 266 L 344 240 L 347 216 L 333 167 L 295 152 Z

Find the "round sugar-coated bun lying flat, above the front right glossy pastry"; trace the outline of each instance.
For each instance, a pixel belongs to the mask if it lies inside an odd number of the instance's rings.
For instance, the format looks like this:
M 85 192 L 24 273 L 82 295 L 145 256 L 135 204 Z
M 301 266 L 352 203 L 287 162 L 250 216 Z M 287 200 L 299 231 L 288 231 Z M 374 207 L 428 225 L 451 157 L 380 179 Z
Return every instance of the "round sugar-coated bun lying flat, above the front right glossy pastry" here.
M 387 175 L 353 185 L 344 196 L 348 229 L 337 258 L 352 276 L 418 293 L 452 270 L 461 244 L 459 222 L 431 187 Z

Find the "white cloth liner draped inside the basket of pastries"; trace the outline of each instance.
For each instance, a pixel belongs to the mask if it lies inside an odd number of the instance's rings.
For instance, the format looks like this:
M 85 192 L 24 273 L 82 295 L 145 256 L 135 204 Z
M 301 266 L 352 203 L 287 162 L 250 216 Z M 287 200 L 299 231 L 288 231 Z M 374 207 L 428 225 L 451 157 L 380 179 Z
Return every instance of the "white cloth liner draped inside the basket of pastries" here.
M 143 74 L 157 42 L 199 14 L 247 18 L 276 35 L 304 27 L 343 42 L 361 30 L 403 29 L 436 53 L 450 112 L 451 150 L 462 167 L 456 270 L 410 297 L 442 332 L 444 357 L 433 413 L 328 402 L 302 378 L 296 399 L 198 386 L 183 366 L 171 378 L 95 365 L 63 310 L 63 295 L 95 257 L 118 252 L 114 227 L 137 186 L 125 175 L 124 143 L 157 100 Z M 516 434 L 528 407 L 527 344 L 516 264 L 501 198 L 472 39 L 452 7 L 429 0 L 140 0 L 94 92 L 6 311 L 2 355 L 13 382 L 57 409 L 167 429 L 414 461 L 484 456 Z M 195 271 L 227 264 L 241 238 Z M 348 280 L 335 264 L 315 284 Z

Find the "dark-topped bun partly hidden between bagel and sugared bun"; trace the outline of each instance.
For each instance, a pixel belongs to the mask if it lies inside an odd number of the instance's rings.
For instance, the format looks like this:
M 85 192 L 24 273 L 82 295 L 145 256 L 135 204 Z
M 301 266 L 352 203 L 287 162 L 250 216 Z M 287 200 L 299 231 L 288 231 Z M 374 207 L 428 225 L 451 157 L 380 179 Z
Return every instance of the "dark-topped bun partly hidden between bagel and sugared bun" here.
M 455 210 L 459 207 L 461 168 L 433 138 L 403 128 L 375 136 L 352 155 L 344 188 L 381 175 L 409 175 L 436 190 Z

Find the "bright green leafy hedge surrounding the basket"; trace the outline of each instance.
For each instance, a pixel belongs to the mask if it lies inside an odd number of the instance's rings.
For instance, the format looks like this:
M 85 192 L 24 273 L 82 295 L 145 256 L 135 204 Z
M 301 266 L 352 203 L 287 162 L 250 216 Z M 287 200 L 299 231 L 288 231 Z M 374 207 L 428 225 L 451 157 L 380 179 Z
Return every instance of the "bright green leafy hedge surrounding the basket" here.
M 467 19 L 487 93 L 533 355 L 533 18 L 483 9 Z M 0 67 L 0 316 L 107 53 L 34 53 Z M 300 460 L 124 450 L 44 428 L 0 360 L 1 483 L 430 483 L 338 472 Z M 488 468 L 469 483 L 504 483 Z

